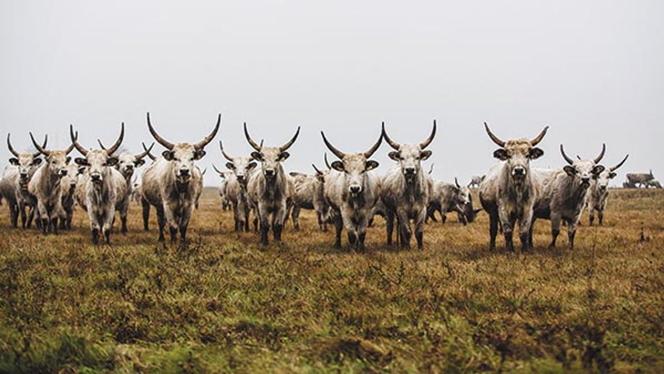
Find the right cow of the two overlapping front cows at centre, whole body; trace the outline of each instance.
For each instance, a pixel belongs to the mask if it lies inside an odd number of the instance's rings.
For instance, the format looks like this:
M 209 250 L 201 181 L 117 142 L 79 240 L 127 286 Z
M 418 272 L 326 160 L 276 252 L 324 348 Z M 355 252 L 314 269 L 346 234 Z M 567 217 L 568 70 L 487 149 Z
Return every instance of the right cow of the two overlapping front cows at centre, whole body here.
M 425 150 L 436 136 L 436 120 L 431 134 L 419 144 L 399 144 L 390 139 L 382 124 L 382 136 L 394 148 L 388 153 L 398 164 L 390 169 L 382 179 L 380 199 L 386 207 L 387 244 L 392 244 L 394 217 L 398 223 L 400 245 L 410 248 L 410 220 L 414 220 L 415 238 L 418 248 L 424 245 L 424 220 L 429 203 L 430 183 L 422 172 L 420 161 L 428 159 L 432 151 Z

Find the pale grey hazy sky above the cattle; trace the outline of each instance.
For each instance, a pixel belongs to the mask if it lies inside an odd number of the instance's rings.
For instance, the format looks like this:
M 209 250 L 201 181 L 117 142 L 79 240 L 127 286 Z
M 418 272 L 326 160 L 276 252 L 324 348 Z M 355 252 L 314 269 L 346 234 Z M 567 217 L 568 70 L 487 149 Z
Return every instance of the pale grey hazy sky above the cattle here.
M 653 1 L 2 1 L 0 130 L 68 145 L 112 143 L 120 122 L 136 153 L 165 138 L 199 141 L 222 127 L 199 165 L 286 142 L 287 170 L 323 166 L 320 130 L 365 151 L 385 121 L 399 142 L 430 145 L 438 179 L 466 182 L 493 163 L 487 121 L 502 138 L 536 136 L 533 165 L 558 146 L 664 178 L 664 2 Z M 163 148 L 155 146 L 157 153 Z M 393 162 L 383 144 L 384 172 Z M 74 151 L 76 152 L 76 151 Z M 9 151 L 0 146 L 2 165 Z M 207 184 L 216 184 L 208 170 Z

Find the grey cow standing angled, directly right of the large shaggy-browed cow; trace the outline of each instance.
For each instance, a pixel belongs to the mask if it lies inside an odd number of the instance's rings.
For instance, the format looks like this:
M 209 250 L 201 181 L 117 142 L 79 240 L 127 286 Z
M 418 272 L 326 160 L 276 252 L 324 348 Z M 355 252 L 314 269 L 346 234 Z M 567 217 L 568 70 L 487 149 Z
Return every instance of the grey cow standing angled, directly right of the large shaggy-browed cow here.
M 586 205 L 586 193 L 590 188 L 590 181 L 597 179 L 605 167 L 597 165 L 606 151 L 602 144 L 602 151 L 595 159 L 572 160 L 560 144 L 560 153 L 569 165 L 562 169 L 534 169 L 535 183 L 542 189 L 534 207 L 534 218 L 529 233 L 529 243 L 533 244 L 532 227 L 535 219 L 551 220 L 551 244 L 556 246 L 556 238 L 560 233 L 560 221 L 567 224 L 569 238 L 568 246 L 574 248 L 576 227 L 581 219 L 581 213 Z M 503 230 L 505 227 L 503 226 Z

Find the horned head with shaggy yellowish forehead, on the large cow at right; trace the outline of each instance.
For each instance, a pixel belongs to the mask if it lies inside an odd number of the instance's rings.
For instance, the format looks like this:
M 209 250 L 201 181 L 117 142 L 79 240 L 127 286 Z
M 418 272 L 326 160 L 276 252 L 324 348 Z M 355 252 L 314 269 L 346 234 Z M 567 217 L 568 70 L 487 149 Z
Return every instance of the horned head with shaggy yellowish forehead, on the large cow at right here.
M 530 171 L 531 159 L 537 159 L 544 154 L 544 151 L 535 147 L 535 145 L 542 141 L 542 138 L 546 135 L 548 126 L 544 127 L 544 130 L 542 130 L 542 132 L 540 132 L 540 134 L 533 140 L 522 138 L 507 141 L 500 140 L 500 138 L 495 136 L 486 122 L 484 122 L 484 128 L 487 131 L 487 134 L 489 134 L 489 138 L 500 147 L 493 151 L 493 157 L 505 161 L 513 181 L 516 183 L 525 181 Z

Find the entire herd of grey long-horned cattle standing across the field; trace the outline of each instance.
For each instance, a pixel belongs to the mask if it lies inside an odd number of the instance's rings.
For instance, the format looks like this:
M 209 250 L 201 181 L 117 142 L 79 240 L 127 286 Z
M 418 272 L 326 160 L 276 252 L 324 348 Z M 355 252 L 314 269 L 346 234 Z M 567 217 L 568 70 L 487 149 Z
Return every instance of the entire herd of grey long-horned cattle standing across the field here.
M 30 138 L 37 152 L 19 153 L 7 134 L 7 147 L 14 155 L 0 181 L 0 199 L 9 206 L 12 227 L 18 226 L 19 213 L 23 229 L 30 228 L 33 220 L 44 234 L 70 229 L 75 203 L 88 213 L 92 242 L 98 244 L 100 236 L 110 243 L 116 211 L 120 215 L 121 231 L 127 232 L 127 212 L 130 201 L 140 201 L 143 207 L 143 228 L 147 231 L 149 211 L 155 208 L 159 226 L 159 241 L 165 240 L 169 229 L 171 242 L 179 234 L 186 242 L 187 226 L 203 191 L 203 173 L 195 161 L 205 156 L 205 147 L 219 130 L 219 115 L 212 132 L 198 143 L 171 143 L 157 134 L 147 114 L 147 127 L 153 138 L 165 150 L 155 157 L 143 143 L 139 154 L 116 154 L 124 140 L 124 124 L 120 136 L 111 147 L 86 148 L 78 142 L 78 132 L 70 126 L 71 145 L 66 149 L 48 149 L 48 138 L 39 144 L 33 134 Z M 313 175 L 286 173 L 282 165 L 288 159 L 288 149 L 295 143 L 299 128 L 284 145 L 277 147 L 257 143 L 244 124 L 246 140 L 254 149 L 248 156 L 231 156 L 219 141 L 220 151 L 228 160 L 228 171 L 215 171 L 222 178 L 220 195 L 222 208 L 232 209 L 236 231 L 250 231 L 250 215 L 254 231 L 260 231 L 260 240 L 268 244 L 270 230 L 274 240 L 282 240 L 284 225 L 290 216 L 295 230 L 299 229 L 301 209 L 313 209 L 319 229 L 335 227 L 335 246 L 341 246 L 341 232 L 346 229 L 349 246 L 363 250 L 367 228 L 376 215 L 386 221 L 386 242 L 392 244 L 396 219 L 396 242 L 401 248 L 410 246 L 414 231 L 418 248 L 424 243 L 424 225 L 428 219 L 436 221 L 438 212 L 443 221 L 446 213 L 456 212 L 463 224 L 475 219 L 478 211 L 473 207 L 469 187 L 479 188 L 482 209 L 489 215 L 489 246 L 495 250 L 500 230 L 505 236 L 507 250 L 513 250 L 513 232 L 519 223 L 519 238 L 523 250 L 533 246 L 533 225 L 536 219 L 551 222 L 550 246 L 556 245 L 560 223 L 568 229 L 568 245 L 574 246 L 574 235 L 581 213 L 590 211 L 590 224 L 598 215 L 600 225 L 608 198 L 608 184 L 616 177 L 616 169 L 600 164 L 606 147 L 594 158 L 569 157 L 560 145 L 566 165 L 558 169 L 531 167 L 530 161 L 544 154 L 537 144 L 544 138 L 548 127 L 528 139 L 501 140 L 484 124 L 485 130 L 499 148 L 493 156 L 500 160 L 483 177 L 473 177 L 468 186 L 434 181 L 431 169 L 422 169 L 422 161 L 432 155 L 426 149 L 436 136 L 436 121 L 431 133 L 421 143 L 398 143 L 388 136 L 384 124 L 376 140 L 367 151 L 352 153 L 335 147 L 321 132 L 325 146 L 337 159 L 331 163 L 325 155 L 325 168 L 313 165 Z M 388 153 L 396 165 L 380 175 L 374 169 L 378 162 L 371 159 L 382 141 L 392 151 Z M 72 162 L 69 156 L 76 149 L 82 157 Z M 41 156 L 44 156 L 44 159 Z M 141 182 L 132 177 L 137 167 L 152 159 L 142 173 Z M 652 171 L 627 174 L 625 187 L 657 186 Z M 0 200 L 1 201 L 1 200 Z M 27 211 L 26 211 L 27 210 Z M 411 227 L 411 221 L 412 226 Z

